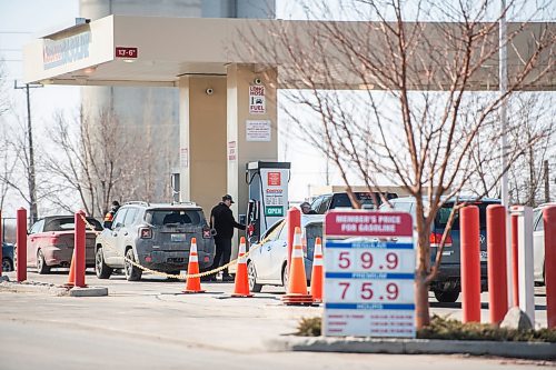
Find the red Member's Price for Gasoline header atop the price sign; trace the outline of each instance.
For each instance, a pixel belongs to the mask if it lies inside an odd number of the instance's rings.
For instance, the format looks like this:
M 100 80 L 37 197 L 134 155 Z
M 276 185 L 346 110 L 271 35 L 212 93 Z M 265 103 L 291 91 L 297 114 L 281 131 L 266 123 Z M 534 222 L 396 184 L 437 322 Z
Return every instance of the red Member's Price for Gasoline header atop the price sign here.
M 326 214 L 327 236 L 346 237 L 413 237 L 409 213 L 403 212 L 341 212 Z

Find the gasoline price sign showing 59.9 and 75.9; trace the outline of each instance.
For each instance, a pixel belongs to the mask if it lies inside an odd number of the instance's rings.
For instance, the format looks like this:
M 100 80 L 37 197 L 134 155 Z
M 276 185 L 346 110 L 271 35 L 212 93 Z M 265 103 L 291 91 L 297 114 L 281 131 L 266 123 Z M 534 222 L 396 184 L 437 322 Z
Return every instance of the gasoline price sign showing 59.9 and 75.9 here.
M 409 213 L 328 212 L 325 256 L 325 336 L 415 338 Z

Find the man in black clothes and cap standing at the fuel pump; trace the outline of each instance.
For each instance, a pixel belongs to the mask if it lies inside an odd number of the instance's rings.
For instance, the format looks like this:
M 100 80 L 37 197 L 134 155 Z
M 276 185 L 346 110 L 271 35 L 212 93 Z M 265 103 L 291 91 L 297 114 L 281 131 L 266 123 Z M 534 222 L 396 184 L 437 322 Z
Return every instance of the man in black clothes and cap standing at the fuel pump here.
M 230 261 L 231 256 L 231 238 L 234 237 L 234 228 L 239 230 L 245 230 L 246 226 L 236 222 L 234 219 L 234 213 L 231 212 L 231 204 L 234 199 L 230 194 L 222 197 L 222 201 L 212 208 L 210 211 L 210 228 L 216 230 L 215 244 L 216 254 L 215 262 L 212 263 L 211 270 L 224 266 Z M 221 259 L 221 264 L 220 264 Z M 210 277 L 211 280 L 216 280 L 216 276 Z M 222 272 L 224 281 L 231 281 L 234 278 L 228 273 L 228 269 Z

